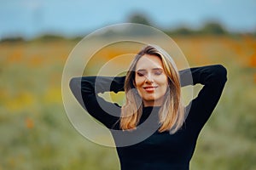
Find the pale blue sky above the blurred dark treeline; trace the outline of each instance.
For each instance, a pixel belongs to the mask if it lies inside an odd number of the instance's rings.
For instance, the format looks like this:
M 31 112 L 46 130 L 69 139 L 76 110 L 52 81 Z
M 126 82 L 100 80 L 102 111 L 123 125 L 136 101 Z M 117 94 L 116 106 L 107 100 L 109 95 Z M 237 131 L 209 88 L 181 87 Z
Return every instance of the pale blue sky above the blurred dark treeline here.
M 0 38 L 57 33 L 72 37 L 145 14 L 159 29 L 199 28 L 217 20 L 229 31 L 256 31 L 256 0 L 0 0 Z

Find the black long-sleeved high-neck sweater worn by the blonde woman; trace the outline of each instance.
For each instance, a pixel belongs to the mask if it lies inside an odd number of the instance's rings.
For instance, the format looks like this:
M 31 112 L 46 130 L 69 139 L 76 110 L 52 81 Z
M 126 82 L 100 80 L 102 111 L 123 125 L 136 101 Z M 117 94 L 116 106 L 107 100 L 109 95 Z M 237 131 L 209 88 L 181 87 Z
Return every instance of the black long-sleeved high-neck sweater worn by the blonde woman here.
M 189 81 L 189 70 L 192 73 L 193 82 Z M 143 133 L 136 132 L 126 139 L 120 137 L 119 134 L 112 133 L 116 144 L 125 142 L 124 140 L 127 139 L 132 141 L 136 138 L 145 138 L 137 144 L 116 147 L 122 170 L 189 169 L 189 161 L 193 156 L 196 140 L 218 103 L 227 81 L 227 71 L 223 65 L 207 65 L 179 71 L 179 75 L 182 87 L 197 83 L 204 85 L 197 97 L 186 106 L 186 119 L 183 127 L 174 134 L 159 133 L 154 128 L 155 131 L 148 138 L 147 136 L 141 137 L 140 135 L 143 136 Z M 124 82 L 125 77 L 75 77 L 70 82 L 70 88 L 76 99 L 91 116 L 108 128 L 119 129 L 120 106 L 102 99 L 97 94 L 106 91 L 114 93 L 124 91 Z M 158 122 L 155 112 L 158 112 L 159 109 L 160 107 L 143 108 L 140 123 L 144 122 L 152 113 L 155 122 Z M 108 114 L 110 111 L 112 115 Z M 113 114 L 115 115 L 113 116 Z M 153 127 L 154 125 L 152 125 Z M 151 126 L 148 128 L 150 130 Z

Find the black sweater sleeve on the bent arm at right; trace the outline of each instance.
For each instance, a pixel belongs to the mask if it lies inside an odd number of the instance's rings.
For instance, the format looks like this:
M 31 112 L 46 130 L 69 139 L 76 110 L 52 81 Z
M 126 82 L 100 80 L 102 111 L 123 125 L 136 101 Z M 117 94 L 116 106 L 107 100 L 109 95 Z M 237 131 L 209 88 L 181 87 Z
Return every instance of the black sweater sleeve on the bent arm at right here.
M 189 75 L 192 75 L 193 81 L 188 81 Z M 223 65 L 194 67 L 180 71 L 180 78 L 183 86 L 197 83 L 203 85 L 197 97 L 186 107 L 189 111 L 186 126 L 200 132 L 218 104 L 227 81 L 227 70 Z

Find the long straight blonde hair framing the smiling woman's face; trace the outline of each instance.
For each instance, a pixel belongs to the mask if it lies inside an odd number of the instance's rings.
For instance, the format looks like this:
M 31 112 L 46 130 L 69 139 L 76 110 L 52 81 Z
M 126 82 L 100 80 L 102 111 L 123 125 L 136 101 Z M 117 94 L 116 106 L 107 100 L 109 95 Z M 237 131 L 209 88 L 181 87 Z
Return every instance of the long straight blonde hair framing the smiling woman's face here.
M 135 129 L 143 115 L 142 99 L 137 94 L 134 81 L 137 61 L 144 54 L 158 56 L 162 61 L 163 69 L 168 77 L 167 89 L 169 90 L 166 90 L 165 100 L 159 111 L 159 132 L 170 131 L 170 133 L 175 133 L 182 127 L 184 122 L 184 107 L 182 104 L 179 74 L 177 66 L 170 55 L 162 48 L 153 45 L 146 46 L 135 56 L 126 74 L 124 87 L 126 101 L 121 109 L 120 128 L 123 130 Z

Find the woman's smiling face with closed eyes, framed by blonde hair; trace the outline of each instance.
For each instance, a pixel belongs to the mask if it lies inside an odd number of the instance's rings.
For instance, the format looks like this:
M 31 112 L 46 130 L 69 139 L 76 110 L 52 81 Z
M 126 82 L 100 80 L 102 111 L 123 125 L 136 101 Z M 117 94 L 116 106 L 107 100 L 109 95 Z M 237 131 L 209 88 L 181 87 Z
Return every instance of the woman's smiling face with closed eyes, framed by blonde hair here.
M 168 81 L 158 56 L 144 54 L 137 61 L 135 86 L 144 106 L 162 105 Z

